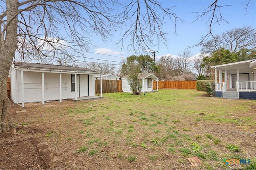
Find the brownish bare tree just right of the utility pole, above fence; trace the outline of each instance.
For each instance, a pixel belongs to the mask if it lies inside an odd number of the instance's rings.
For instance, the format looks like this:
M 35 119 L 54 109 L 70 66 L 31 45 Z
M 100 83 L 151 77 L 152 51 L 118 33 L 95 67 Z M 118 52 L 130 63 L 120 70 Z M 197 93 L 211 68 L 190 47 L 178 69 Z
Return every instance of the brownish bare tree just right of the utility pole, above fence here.
M 160 80 L 170 80 L 175 75 L 174 58 L 172 56 L 161 56 L 156 64 L 160 68 L 159 72 L 156 73 Z

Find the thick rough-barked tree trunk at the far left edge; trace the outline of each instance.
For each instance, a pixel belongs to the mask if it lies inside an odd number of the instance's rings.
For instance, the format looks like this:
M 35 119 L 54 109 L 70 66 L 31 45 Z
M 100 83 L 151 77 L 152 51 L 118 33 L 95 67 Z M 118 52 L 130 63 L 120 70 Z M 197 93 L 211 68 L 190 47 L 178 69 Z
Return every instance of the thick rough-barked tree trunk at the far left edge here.
M 6 81 L 17 49 L 18 0 L 6 0 L 7 23 L 0 30 L 0 133 L 6 133 L 12 127 L 9 118 L 10 100 L 7 96 Z

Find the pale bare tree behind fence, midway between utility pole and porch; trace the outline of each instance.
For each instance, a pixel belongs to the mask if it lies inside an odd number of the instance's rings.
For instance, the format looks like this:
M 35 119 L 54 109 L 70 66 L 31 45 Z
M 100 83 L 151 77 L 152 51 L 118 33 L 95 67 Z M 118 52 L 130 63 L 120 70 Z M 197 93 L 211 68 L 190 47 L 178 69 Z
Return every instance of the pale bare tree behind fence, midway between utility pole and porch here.
M 191 56 L 192 55 L 190 50 L 184 50 L 183 53 L 179 54 L 178 57 L 175 59 L 175 67 L 180 75 L 191 72 Z

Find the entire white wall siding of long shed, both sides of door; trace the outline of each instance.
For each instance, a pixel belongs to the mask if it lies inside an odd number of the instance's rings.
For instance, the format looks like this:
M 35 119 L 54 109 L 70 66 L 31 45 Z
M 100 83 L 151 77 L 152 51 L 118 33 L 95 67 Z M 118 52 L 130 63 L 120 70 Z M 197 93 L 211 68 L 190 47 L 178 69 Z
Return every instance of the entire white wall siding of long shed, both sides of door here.
M 24 103 L 42 102 L 42 72 L 24 71 Z M 89 77 L 89 94 L 95 96 L 95 75 L 84 74 Z M 10 72 L 12 81 L 12 100 L 15 104 L 22 103 L 21 71 Z M 78 79 L 79 83 L 79 79 Z M 88 86 L 87 85 L 87 86 Z M 71 74 L 62 74 L 62 100 L 74 98 L 75 92 L 71 92 Z M 79 88 L 78 88 L 79 97 Z M 44 100 L 60 99 L 60 74 L 44 73 Z

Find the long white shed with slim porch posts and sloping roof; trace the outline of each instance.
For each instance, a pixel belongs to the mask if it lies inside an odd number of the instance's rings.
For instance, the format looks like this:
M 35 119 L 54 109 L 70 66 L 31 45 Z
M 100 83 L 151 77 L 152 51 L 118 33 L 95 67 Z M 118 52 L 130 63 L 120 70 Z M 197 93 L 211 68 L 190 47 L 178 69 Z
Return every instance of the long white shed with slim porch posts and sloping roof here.
M 14 62 L 10 70 L 12 101 L 24 107 L 28 102 L 99 98 L 95 96 L 97 74 L 88 68 Z

